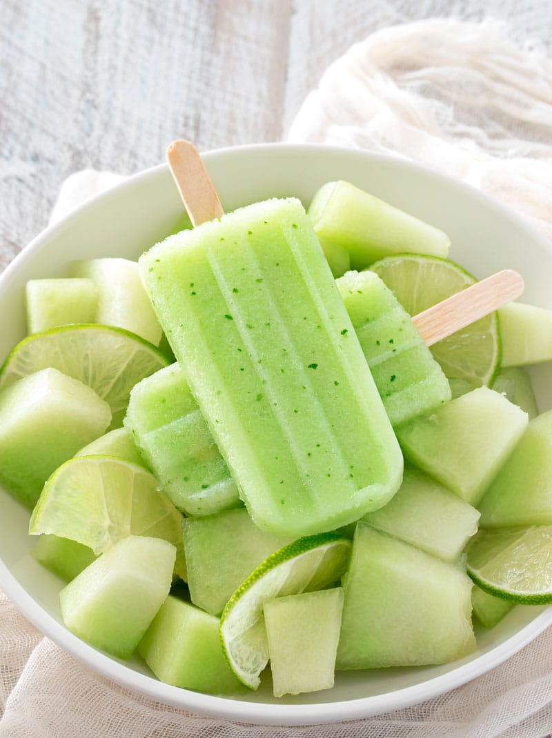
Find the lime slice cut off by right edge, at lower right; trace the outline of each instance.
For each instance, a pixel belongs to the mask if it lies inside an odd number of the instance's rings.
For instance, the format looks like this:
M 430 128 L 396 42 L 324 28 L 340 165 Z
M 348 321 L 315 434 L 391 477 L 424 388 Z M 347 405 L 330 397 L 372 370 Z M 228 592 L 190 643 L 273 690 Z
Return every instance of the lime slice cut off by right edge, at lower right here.
M 482 529 L 467 556 L 469 576 L 489 594 L 521 604 L 552 602 L 552 525 Z

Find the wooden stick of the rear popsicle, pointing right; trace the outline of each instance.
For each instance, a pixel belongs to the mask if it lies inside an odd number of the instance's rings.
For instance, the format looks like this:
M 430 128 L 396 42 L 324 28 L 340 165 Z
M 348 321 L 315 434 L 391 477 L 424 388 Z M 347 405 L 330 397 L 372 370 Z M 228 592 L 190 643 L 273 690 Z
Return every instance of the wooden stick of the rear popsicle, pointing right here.
M 432 346 L 520 297 L 523 286 L 521 275 L 513 269 L 503 269 L 418 313 L 412 320 L 424 343 Z

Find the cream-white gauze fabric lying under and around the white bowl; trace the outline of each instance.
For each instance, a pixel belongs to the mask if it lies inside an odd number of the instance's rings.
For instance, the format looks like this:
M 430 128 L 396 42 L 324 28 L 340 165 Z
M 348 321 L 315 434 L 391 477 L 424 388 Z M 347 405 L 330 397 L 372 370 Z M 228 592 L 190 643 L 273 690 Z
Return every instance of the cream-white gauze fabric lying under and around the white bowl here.
M 335 62 L 291 125 L 292 141 L 393 152 L 481 187 L 552 235 L 552 62 L 497 24 L 388 28 Z M 120 176 L 63 186 L 58 219 Z M 229 723 L 147 700 L 98 676 L 0 593 L 0 738 L 545 738 L 552 630 L 486 675 L 426 703 L 338 725 Z

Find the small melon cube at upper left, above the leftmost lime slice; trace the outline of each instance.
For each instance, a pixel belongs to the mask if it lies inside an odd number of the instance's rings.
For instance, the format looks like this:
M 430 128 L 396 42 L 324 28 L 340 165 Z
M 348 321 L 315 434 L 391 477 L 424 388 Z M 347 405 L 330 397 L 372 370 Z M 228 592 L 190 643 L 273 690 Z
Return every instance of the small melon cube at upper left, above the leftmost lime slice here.
M 25 287 L 25 303 L 29 333 L 69 323 L 94 323 L 97 286 L 86 277 L 32 279 Z

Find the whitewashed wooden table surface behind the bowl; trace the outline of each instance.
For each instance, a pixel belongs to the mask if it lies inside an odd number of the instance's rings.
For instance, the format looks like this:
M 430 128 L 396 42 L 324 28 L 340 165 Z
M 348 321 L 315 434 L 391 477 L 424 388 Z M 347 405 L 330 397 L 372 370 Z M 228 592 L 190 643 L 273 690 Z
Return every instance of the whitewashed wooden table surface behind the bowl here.
M 552 49 L 550 0 L 0 0 L 0 270 L 75 170 L 282 139 L 351 44 L 433 16 Z

